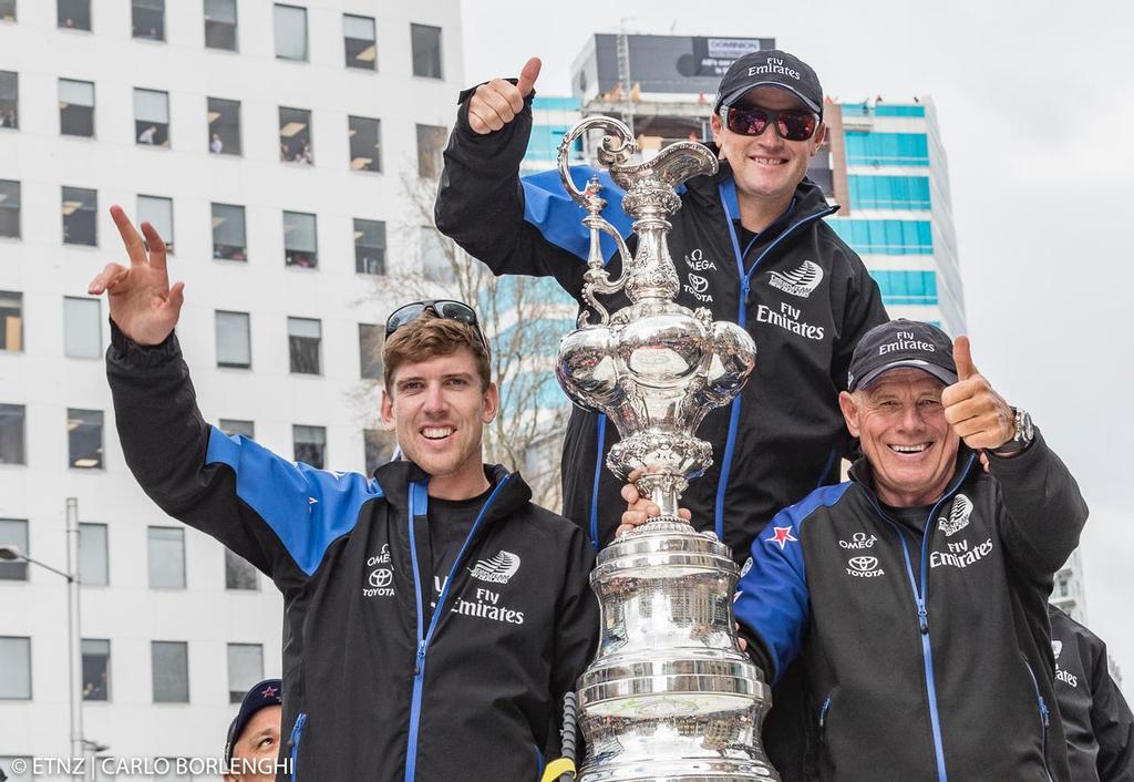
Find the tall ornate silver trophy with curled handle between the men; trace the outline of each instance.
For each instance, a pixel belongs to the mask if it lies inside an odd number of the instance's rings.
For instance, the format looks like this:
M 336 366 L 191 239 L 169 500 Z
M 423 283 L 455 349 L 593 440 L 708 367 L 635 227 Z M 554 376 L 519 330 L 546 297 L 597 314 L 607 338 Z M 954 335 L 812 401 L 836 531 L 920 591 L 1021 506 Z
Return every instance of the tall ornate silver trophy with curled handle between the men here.
M 590 129 L 607 132 L 598 159 L 626 191 L 623 209 L 635 218 L 638 237 L 633 258 L 600 215 L 606 202 L 598 178 L 582 191 L 570 178 L 569 148 Z M 760 745 L 769 688 L 734 628 L 739 570 L 714 535 L 677 515 L 689 479 L 712 464 L 697 426 L 741 392 L 755 363 L 744 329 L 674 301 L 679 283 L 666 218 L 680 208 L 675 188 L 714 174 L 717 159 L 702 144 L 680 142 L 634 165 L 636 150 L 629 129 L 608 117 L 579 121 L 559 146 L 564 185 L 591 229 L 587 310 L 560 344 L 559 382 L 575 404 L 613 421 L 621 440 L 607 466 L 620 478 L 636 472 L 638 491 L 661 508 L 607 546 L 591 574 L 602 633 L 578 680 L 587 749 L 581 780 L 778 780 Z M 603 268 L 601 234 L 621 254 L 617 280 Z M 598 298 L 618 294 L 629 303 L 613 313 Z

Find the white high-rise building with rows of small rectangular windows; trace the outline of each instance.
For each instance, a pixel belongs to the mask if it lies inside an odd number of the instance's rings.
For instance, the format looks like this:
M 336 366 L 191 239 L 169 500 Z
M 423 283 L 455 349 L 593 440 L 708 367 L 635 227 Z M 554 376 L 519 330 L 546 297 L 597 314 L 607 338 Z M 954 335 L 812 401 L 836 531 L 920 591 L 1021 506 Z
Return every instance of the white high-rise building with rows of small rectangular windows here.
M 101 754 L 218 758 L 281 628 L 272 583 L 124 462 L 86 293 L 124 260 L 108 208 L 171 245 L 205 418 L 362 471 L 390 446 L 376 291 L 424 241 L 406 180 L 439 169 L 462 64 L 457 0 L 0 1 L 0 546 L 66 567 L 77 498 Z M 14 757 L 69 754 L 65 580 L 0 562 L 0 768 L 28 779 Z

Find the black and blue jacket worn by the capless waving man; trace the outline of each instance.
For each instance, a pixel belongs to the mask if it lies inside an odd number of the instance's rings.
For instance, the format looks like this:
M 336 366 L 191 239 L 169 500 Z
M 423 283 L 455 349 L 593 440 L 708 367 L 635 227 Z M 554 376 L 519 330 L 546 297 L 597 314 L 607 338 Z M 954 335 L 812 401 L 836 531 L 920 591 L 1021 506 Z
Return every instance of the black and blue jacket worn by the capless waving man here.
M 598 640 L 583 532 L 533 505 L 518 474 L 489 469 L 494 489 L 439 575 L 429 622 L 424 472 L 329 472 L 227 437 L 202 420 L 175 336 L 142 348 L 112 327 L 111 339 L 118 434 L 138 482 L 284 594 L 294 779 L 536 780 Z

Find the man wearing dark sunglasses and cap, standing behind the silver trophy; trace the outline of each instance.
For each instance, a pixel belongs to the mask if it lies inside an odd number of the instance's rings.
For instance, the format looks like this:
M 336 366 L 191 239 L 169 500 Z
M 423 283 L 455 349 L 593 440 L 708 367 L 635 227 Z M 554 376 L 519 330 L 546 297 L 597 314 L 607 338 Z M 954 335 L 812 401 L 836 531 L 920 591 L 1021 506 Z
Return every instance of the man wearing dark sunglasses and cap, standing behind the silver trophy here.
M 558 171 L 521 179 L 540 61 L 517 81 L 494 79 L 460 96 L 445 152 L 437 225 L 496 274 L 553 276 L 582 303 L 589 234 Z M 836 211 L 806 179 L 823 142 L 823 92 L 815 73 L 778 50 L 739 58 L 713 103 L 716 176 L 684 186 L 669 246 L 682 281 L 678 302 L 746 327 L 756 368 L 742 396 L 711 411 L 699 436 L 712 443 L 710 470 L 683 503 L 738 558 L 785 505 L 838 480 L 850 439 L 838 393 L 858 338 L 886 321 L 878 286 L 822 218 Z M 583 185 L 595 171 L 573 168 Z M 600 175 L 604 216 L 629 237 L 620 193 Z M 620 261 L 608 266 L 620 274 Z M 615 298 L 612 308 L 627 302 Z M 564 515 L 595 547 L 613 538 L 619 482 L 603 461 L 617 431 L 604 417 L 574 410 L 562 454 Z

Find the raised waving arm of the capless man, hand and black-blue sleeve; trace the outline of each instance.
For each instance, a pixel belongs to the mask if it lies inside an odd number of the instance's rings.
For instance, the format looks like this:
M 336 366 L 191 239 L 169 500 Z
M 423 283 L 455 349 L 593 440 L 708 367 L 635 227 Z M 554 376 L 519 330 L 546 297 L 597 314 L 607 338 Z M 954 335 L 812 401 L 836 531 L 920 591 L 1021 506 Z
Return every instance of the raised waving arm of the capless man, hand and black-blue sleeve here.
M 111 216 L 129 267 L 107 266 L 88 291 L 110 298 L 107 376 L 127 465 L 166 513 L 213 536 L 281 589 L 302 585 L 381 489 L 362 476 L 293 464 L 205 423 L 174 334 L 184 286 L 169 285 L 166 245 L 143 224 L 147 252 L 121 208 Z

